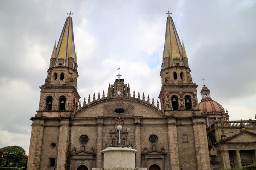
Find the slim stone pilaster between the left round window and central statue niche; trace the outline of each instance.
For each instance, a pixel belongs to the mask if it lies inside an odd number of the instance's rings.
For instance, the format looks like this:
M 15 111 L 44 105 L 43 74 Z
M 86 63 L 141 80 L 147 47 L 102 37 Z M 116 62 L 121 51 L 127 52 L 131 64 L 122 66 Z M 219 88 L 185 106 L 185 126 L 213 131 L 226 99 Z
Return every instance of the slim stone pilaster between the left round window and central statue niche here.
M 102 128 L 103 117 L 97 117 L 97 148 L 96 148 L 96 167 L 102 167 Z

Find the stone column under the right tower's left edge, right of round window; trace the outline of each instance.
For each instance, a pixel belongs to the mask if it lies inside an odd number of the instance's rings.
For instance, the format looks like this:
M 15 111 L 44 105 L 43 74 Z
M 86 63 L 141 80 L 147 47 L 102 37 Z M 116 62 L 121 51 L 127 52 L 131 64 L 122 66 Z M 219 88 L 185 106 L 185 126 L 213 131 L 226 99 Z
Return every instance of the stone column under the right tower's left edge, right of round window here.
M 170 167 L 171 170 L 180 170 L 176 119 L 167 118 L 167 122 Z

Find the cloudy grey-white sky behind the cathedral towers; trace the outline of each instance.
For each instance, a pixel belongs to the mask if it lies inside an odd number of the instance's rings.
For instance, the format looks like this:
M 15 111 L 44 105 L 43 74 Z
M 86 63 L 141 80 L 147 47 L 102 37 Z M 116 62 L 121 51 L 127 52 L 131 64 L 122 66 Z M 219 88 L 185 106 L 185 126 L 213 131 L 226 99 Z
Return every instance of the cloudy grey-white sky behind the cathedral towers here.
M 254 119 L 256 0 L 0 0 L 0 147 L 28 153 L 38 86 L 70 8 L 82 99 L 107 91 L 120 66 L 132 90 L 156 101 L 168 7 L 198 92 L 204 77 L 230 120 Z

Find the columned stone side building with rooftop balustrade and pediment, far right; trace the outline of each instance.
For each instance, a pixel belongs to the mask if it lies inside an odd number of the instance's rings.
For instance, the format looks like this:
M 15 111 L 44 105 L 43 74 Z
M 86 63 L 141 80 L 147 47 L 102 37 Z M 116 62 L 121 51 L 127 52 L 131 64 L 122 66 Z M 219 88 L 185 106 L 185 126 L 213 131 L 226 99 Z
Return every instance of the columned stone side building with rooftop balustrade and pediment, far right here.
M 256 164 L 256 121 L 216 121 L 207 128 L 212 170 Z

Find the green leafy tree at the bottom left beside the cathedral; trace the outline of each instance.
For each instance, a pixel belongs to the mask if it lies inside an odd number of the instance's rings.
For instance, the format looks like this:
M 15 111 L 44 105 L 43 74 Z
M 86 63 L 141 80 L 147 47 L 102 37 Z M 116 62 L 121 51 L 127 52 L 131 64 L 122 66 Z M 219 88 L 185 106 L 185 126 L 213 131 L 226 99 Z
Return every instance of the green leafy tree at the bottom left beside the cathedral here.
M 4 161 L 6 161 L 6 166 L 9 165 L 10 162 L 12 162 L 14 165 L 26 164 L 26 161 L 24 160 L 26 158 L 25 157 L 26 151 L 22 147 L 6 146 L 2 148 L 2 151 L 5 153 L 3 154 L 3 159 Z M 9 153 L 14 153 L 14 154 L 10 155 Z

